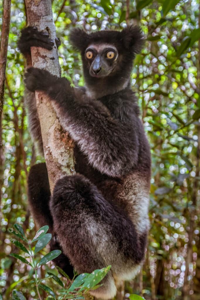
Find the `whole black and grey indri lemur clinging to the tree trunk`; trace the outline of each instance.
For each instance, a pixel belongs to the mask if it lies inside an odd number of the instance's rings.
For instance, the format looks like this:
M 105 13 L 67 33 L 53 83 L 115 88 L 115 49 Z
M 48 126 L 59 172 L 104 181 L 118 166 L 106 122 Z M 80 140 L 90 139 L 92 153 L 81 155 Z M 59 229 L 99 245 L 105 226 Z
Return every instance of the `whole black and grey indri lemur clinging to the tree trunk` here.
M 28 197 L 37 223 L 55 235 L 56 264 L 72 273 L 112 265 L 103 286 L 91 294 L 113 298 L 120 280 L 130 280 L 142 263 L 148 232 L 150 150 L 137 99 L 130 86 L 133 59 L 142 47 L 138 27 L 121 32 L 87 34 L 74 29 L 72 45 L 81 52 L 85 88 L 66 78 L 30 67 L 25 73 L 30 129 L 42 152 L 34 91 L 50 96 L 64 130 L 76 143 L 76 175 L 64 176 L 50 196 L 45 164 L 31 168 Z M 28 58 L 30 47 L 52 49 L 46 32 L 28 27 L 19 40 Z M 69 263 L 70 262 L 70 263 Z

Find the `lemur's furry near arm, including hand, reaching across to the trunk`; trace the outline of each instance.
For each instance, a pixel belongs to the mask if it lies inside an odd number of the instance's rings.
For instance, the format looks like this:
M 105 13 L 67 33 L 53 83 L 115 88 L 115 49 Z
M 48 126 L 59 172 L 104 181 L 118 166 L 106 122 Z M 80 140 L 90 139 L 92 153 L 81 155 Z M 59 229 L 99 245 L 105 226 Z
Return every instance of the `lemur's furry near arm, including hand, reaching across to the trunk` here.
M 113 119 L 100 101 L 76 98 L 67 79 L 33 67 L 25 74 L 25 84 L 30 91 L 41 90 L 50 96 L 62 127 L 101 173 L 119 177 L 137 165 L 136 131 Z

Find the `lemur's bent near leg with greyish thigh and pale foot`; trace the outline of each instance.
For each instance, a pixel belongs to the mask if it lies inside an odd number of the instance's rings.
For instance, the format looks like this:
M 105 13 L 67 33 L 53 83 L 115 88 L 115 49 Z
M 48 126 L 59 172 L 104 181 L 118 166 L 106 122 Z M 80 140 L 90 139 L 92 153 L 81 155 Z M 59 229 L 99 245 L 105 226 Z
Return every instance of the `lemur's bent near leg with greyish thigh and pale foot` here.
M 50 210 L 63 252 L 79 273 L 112 265 L 104 285 L 92 294 L 114 297 L 111 274 L 117 278 L 115 273 L 135 268 L 144 256 L 144 245 L 131 220 L 79 174 L 58 180 Z

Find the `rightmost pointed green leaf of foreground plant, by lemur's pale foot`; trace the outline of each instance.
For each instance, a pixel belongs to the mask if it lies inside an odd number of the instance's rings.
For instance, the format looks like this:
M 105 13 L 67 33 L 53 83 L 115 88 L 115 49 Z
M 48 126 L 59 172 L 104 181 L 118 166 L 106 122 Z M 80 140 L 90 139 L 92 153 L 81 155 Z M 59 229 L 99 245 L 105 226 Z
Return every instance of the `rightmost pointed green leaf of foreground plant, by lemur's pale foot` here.
M 110 270 L 111 265 L 109 265 L 106 268 L 102 268 L 100 270 L 95 270 L 94 272 L 92 272 L 87 279 L 85 280 L 85 282 L 82 285 L 82 289 L 88 288 L 91 289 L 93 288 L 95 285 L 97 285 L 108 273 L 108 271 Z M 80 289 L 80 291 L 82 290 Z

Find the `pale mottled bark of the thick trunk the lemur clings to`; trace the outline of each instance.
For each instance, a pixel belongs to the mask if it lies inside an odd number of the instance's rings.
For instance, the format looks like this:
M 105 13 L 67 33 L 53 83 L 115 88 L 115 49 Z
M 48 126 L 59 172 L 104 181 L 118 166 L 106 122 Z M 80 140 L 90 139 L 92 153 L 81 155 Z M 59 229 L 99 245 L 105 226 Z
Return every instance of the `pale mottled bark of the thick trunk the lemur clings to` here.
M 46 29 L 55 40 L 55 24 L 53 21 L 51 0 L 25 0 L 28 26 Z M 48 70 L 56 76 L 61 75 L 56 45 L 49 51 L 31 47 L 31 58 L 34 67 Z M 73 141 L 64 133 L 58 122 L 48 97 L 43 92 L 36 92 L 37 112 L 43 139 L 44 156 L 48 170 L 50 189 L 55 182 L 66 174 L 73 174 Z

